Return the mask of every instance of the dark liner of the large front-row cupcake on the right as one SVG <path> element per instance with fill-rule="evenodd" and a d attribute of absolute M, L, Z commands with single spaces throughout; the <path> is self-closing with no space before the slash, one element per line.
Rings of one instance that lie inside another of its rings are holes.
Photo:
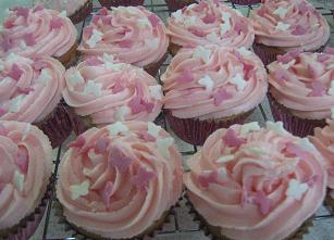
<path fill-rule="evenodd" d="M 196 211 L 187 194 L 185 194 L 185 199 L 187 201 L 186 205 L 189 207 L 189 214 L 193 215 L 195 222 L 199 222 L 199 228 L 205 232 L 207 237 L 212 240 L 237 240 L 223 236 L 221 233 L 220 227 L 210 225 L 206 220 L 206 218 Z M 309 229 L 313 226 L 313 217 L 314 216 L 304 222 L 302 225 L 298 229 L 296 229 L 296 231 L 290 233 L 290 236 L 288 236 L 284 240 L 302 240 L 304 236 L 307 235 L 309 232 Z"/>

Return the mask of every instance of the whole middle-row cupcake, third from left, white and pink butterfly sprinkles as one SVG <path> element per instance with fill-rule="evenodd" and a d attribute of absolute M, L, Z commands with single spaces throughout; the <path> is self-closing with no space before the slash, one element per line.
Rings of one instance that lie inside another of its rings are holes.
<path fill-rule="evenodd" d="M 244 123 L 264 99 L 267 78 L 245 48 L 182 49 L 161 77 L 168 122 L 184 141 L 202 144 L 218 128 Z"/>

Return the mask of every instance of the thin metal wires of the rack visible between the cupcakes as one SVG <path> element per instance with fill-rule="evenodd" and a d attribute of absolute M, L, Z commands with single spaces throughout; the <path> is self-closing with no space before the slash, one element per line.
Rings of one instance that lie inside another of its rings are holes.
<path fill-rule="evenodd" d="M 249 15 L 250 11 L 253 9 L 253 8 L 257 8 L 259 7 L 259 4 L 255 4 L 255 5 L 246 5 L 246 7 L 240 7 L 240 5 L 236 5 L 236 4 L 233 4 L 233 3 L 230 3 L 228 1 L 224 1 L 226 4 L 230 4 L 232 8 L 234 9 L 239 9 L 239 8 L 246 8 L 247 9 L 247 15 Z M 147 8 L 148 10 L 150 10 L 151 12 L 154 12 L 157 13 L 158 15 L 159 14 L 168 14 L 170 15 L 171 12 L 169 12 L 168 10 L 168 7 L 165 3 L 154 3 L 154 0 L 149 0 L 149 4 L 145 4 L 144 5 L 145 8 Z M 97 12 L 99 11 L 100 8 L 95 8 L 94 9 L 94 12 Z M 330 10 L 326 10 L 324 8 L 317 8 L 318 11 L 320 11 L 324 16 L 329 16 L 329 15 L 332 15 L 331 11 Z M 82 26 L 79 28 L 79 38 L 78 38 L 78 42 L 81 42 L 82 40 L 82 36 L 83 36 L 83 29 L 84 27 L 90 22 L 90 18 L 91 18 L 91 15 L 88 16 L 83 23 L 82 23 Z M 170 63 L 170 60 L 168 59 L 162 67 L 159 70 L 159 74 L 158 74 L 158 81 L 161 83 L 160 80 L 160 76 L 162 74 L 162 68 L 165 68 L 168 67 Z M 264 122 L 267 122 L 268 119 L 271 119 L 271 116 L 268 116 L 265 111 L 264 111 L 264 106 L 262 105 L 262 103 L 258 106 L 258 110 L 259 112 L 261 113 L 261 117 L 263 118 Z M 158 124 L 161 125 L 163 128 L 165 128 L 166 130 L 170 130 L 169 127 L 168 127 L 168 124 L 166 124 L 166 119 L 163 115 L 163 113 L 158 117 Z M 193 150 L 190 151 L 184 151 L 182 152 L 182 155 L 183 156 L 187 156 L 187 155 L 193 155 L 194 153 L 196 153 L 198 150 L 197 146 L 193 146 Z M 57 176 L 58 176 L 58 167 L 59 167 L 59 163 L 60 163 L 60 160 L 61 160 L 61 152 L 62 152 L 62 146 L 59 147 L 58 149 L 58 154 L 57 154 L 57 159 L 55 161 L 53 162 L 54 163 L 54 170 L 53 170 L 53 181 L 52 182 L 55 182 L 57 181 Z M 48 239 L 48 231 L 50 229 L 50 218 L 51 218 L 51 211 L 52 211 L 52 205 L 54 203 L 54 201 L 57 201 L 55 199 L 55 191 L 54 191 L 54 188 L 53 188 L 53 191 L 52 191 L 52 194 L 51 194 L 51 198 L 49 200 L 49 204 L 48 204 L 48 209 L 47 209 L 47 212 L 46 212 L 46 217 L 45 217 L 45 223 L 44 223 L 44 230 L 42 230 L 42 239 Z M 182 207 L 185 207 L 184 206 L 184 203 L 181 203 Z M 160 236 L 166 236 L 166 235 L 174 235 L 174 233 L 183 233 L 183 232 L 199 232 L 200 229 L 199 227 L 197 228 L 189 228 L 189 229 L 182 229 L 180 227 L 180 223 L 178 223 L 178 218 L 177 218 L 177 213 L 174 212 L 174 214 L 172 215 L 173 217 L 173 223 L 174 223 L 174 230 L 162 230 L 162 231 L 159 231 L 158 235 Z M 323 219 L 329 219 L 329 218 L 334 218 L 334 210 L 329 210 L 329 214 L 325 214 L 325 215 L 318 215 L 316 216 L 316 220 L 323 220 Z M 69 232 L 69 238 L 65 238 L 67 240 L 70 239 L 76 239 L 75 237 L 70 237 L 70 232 Z M 51 240 L 49 238 L 49 240 Z M 52 240 L 55 240 L 55 239 L 52 239 Z"/>

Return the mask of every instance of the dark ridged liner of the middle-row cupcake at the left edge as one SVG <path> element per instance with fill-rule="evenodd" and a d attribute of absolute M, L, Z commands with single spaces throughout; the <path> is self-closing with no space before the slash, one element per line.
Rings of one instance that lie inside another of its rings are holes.
<path fill-rule="evenodd" d="M 73 116 L 70 106 L 60 102 L 41 122 L 34 123 L 50 139 L 52 148 L 63 143 L 73 130 Z"/>

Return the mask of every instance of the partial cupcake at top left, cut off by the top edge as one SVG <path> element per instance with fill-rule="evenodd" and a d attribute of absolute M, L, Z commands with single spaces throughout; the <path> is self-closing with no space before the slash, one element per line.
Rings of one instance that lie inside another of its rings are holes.
<path fill-rule="evenodd" d="M 67 17 L 74 24 L 83 22 L 92 10 L 91 0 L 37 0 L 36 2 L 59 12 L 66 11 Z"/>

